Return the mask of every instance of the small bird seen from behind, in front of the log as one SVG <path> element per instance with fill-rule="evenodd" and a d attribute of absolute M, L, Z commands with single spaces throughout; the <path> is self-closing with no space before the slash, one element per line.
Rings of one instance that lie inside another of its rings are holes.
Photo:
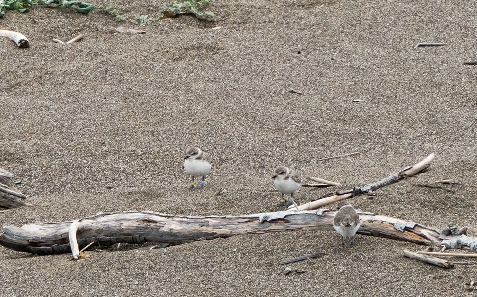
<path fill-rule="evenodd" d="M 333 227 L 343 237 L 341 247 L 344 247 L 345 238 L 351 238 L 350 244 L 354 243 L 354 234 L 359 229 L 359 215 L 346 201 L 338 204 L 338 211 L 334 215 Z"/>

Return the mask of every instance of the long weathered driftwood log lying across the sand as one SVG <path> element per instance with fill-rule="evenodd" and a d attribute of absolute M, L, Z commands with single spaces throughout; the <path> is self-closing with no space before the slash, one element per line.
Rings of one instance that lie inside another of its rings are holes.
<path fill-rule="evenodd" d="M 176 216 L 155 212 L 100 213 L 68 222 L 34 223 L 4 226 L 0 244 L 17 251 L 33 254 L 72 252 L 95 242 L 100 246 L 115 243 L 159 243 L 177 245 L 197 240 L 227 238 L 241 234 L 327 230 L 334 231 L 334 211 L 281 211 L 244 216 Z M 441 245 L 443 240 L 459 239 L 454 248 L 477 251 L 476 238 L 465 235 L 442 236 L 434 228 L 392 217 L 360 213 L 358 234 L 403 240 L 422 245 Z"/>

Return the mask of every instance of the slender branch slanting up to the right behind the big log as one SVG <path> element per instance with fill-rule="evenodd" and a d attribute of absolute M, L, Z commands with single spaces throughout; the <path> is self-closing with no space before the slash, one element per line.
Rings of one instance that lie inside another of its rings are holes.
<path fill-rule="evenodd" d="M 348 191 L 328 194 L 324 197 L 318 198 L 317 200 L 309 201 L 309 202 L 306 202 L 302 205 L 299 205 L 298 210 L 318 209 L 318 208 L 323 207 L 325 205 L 328 205 L 328 204 L 331 204 L 331 203 L 334 203 L 334 202 L 338 202 L 340 200 L 353 198 L 353 197 L 363 195 L 363 194 L 372 196 L 372 195 L 374 195 L 373 191 L 375 191 L 379 188 L 389 186 L 391 184 L 397 183 L 398 181 L 400 181 L 400 180 L 402 180 L 406 177 L 414 176 L 418 173 L 421 173 L 423 170 L 425 170 L 426 168 L 428 168 L 431 165 L 431 162 L 434 160 L 434 158 L 435 158 L 435 154 L 431 153 L 430 155 L 428 155 L 425 159 L 423 159 L 419 163 L 414 164 L 414 165 L 409 166 L 409 167 L 406 167 L 406 168 L 404 168 L 404 170 L 399 171 L 399 172 L 394 173 L 394 174 L 391 174 L 390 176 L 385 177 L 385 178 L 383 178 L 383 179 L 381 179 L 377 182 L 367 184 L 367 185 L 362 186 L 362 187 L 354 187 L 353 189 L 348 190 Z M 292 209 L 292 208 L 297 209 L 294 205 L 291 205 L 288 208 L 289 209 Z"/>

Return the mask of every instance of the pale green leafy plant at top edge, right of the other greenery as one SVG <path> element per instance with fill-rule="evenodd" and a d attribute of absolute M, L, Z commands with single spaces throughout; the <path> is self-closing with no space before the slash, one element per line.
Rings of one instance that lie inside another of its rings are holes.
<path fill-rule="evenodd" d="M 174 17 L 179 14 L 193 14 L 199 19 L 211 20 L 214 13 L 205 11 L 210 5 L 209 0 L 173 1 L 162 9 L 164 17 Z"/>

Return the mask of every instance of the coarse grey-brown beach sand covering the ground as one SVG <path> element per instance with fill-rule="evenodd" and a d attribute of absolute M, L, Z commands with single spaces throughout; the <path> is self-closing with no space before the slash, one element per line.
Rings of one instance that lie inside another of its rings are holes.
<path fill-rule="evenodd" d="M 107 4 L 133 14 L 162 7 Z M 136 27 L 140 35 L 115 32 L 121 24 L 98 11 L 34 8 L 0 19 L 31 45 L 0 39 L 0 167 L 35 206 L 0 213 L 0 225 L 121 210 L 275 211 L 277 165 L 348 189 L 434 152 L 425 174 L 351 202 L 476 236 L 477 68 L 462 65 L 477 53 L 475 2 L 214 0 L 211 10 L 216 22 L 166 19 Z M 79 33 L 68 47 L 52 42 Z M 194 192 L 181 168 L 190 146 L 214 159 L 206 188 Z M 414 186 L 447 178 L 471 186 Z M 227 193 L 215 196 L 220 188 Z M 261 234 L 79 262 L 1 247 L 0 295 L 464 296 L 477 275 L 476 265 L 443 270 L 404 258 L 413 244 L 356 239 L 341 251 L 335 232 Z M 303 274 L 286 276 L 278 264 L 315 252 L 325 256 L 290 264 Z"/>

